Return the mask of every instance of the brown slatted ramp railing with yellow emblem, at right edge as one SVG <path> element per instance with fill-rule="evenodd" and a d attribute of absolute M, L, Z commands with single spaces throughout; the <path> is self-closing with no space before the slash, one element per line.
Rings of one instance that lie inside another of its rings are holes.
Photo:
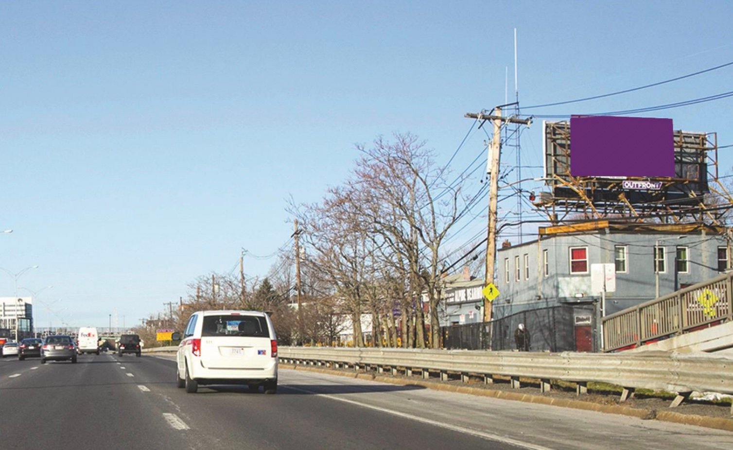
<path fill-rule="evenodd" d="M 733 272 L 672 292 L 603 318 L 603 350 L 638 347 L 721 322 L 733 320 Z"/>

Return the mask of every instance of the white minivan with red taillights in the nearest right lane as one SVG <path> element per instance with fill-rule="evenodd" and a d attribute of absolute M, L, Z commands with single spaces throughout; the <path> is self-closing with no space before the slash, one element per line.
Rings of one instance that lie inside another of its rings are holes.
<path fill-rule="evenodd" d="M 179 388 L 246 384 L 250 391 L 277 392 L 277 337 L 268 314 L 198 311 L 186 325 L 176 355 Z"/>

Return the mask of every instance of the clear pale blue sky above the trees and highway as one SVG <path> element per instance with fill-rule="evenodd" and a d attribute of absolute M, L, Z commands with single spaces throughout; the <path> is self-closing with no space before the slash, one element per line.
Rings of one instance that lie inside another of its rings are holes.
<path fill-rule="evenodd" d="M 520 106 L 531 106 L 733 62 L 731 17 L 726 1 L 2 1 L 0 229 L 15 231 L 0 235 L 0 268 L 39 265 L 18 285 L 53 285 L 39 298 L 70 325 L 105 326 L 113 310 L 117 325 L 139 323 L 196 277 L 232 270 L 240 248 L 276 251 L 292 234 L 286 199 L 315 202 L 342 182 L 354 144 L 410 132 L 446 163 L 471 128 L 463 115 L 504 103 L 507 70 L 513 100 L 515 28 Z M 732 90 L 726 67 L 521 112 Z M 726 145 L 732 106 L 650 115 Z M 540 125 L 522 135 L 526 166 L 541 166 Z M 486 139 L 469 133 L 453 174 Z M 453 246 L 480 232 L 479 211 Z M 248 278 L 272 263 L 246 258 Z M 0 296 L 12 290 L 0 273 Z M 48 325 L 40 304 L 36 315 Z"/>

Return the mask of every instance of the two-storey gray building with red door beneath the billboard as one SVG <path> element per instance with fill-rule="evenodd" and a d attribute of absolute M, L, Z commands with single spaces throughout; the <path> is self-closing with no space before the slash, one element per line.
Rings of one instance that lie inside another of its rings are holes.
<path fill-rule="evenodd" d="M 509 342 L 514 322 L 534 317 L 530 331 L 542 339 L 533 350 L 596 349 L 601 293 L 592 289 L 591 271 L 598 263 L 615 269 L 615 292 L 605 295 L 608 315 L 717 276 L 729 267 L 729 243 L 724 229 L 699 224 L 595 221 L 539 229 L 538 240 L 497 251 L 494 284 L 501 295 L 493 319 L 503 325 L 495 345 Z M 538 327 L 554 329 L 531 329 Z"/>

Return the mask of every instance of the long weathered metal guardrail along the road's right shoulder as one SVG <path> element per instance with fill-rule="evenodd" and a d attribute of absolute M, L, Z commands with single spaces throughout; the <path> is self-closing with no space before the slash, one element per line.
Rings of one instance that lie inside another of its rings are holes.
<path fill-rule="evenodd" d="M 484 350 L 412 350 L 334 347 L 280 347 L 280 361 L 292 364 L 376 369 L 397 374 L 421 372 L 427 378 L 449 373 L 510 377 L 519 387 L 519 377 L 540 380 L 542 391 L 550 380 L 577 383 L 578 394 L 589 381 L 622 386 L 622 401 L 637 388 L 677 392 L 673 406 L 693 391 L 733 394 L 733 359 L 710 355 L 663 352 L 626 353 L 530 353 Z M 733 409 L 733 408 L 732 408 Z"/>

